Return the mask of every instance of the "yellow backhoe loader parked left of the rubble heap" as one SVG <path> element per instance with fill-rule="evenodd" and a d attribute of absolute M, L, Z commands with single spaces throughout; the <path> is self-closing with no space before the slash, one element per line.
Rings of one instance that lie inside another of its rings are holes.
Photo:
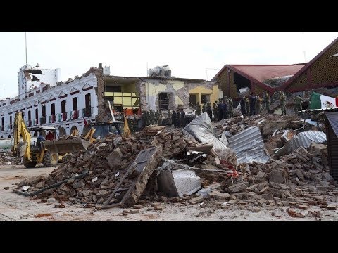
<path fill-rule="evenodd" d="M 37 131 L 46 140 L 32 138 L 31 132 Z M 49 131 L 49 134 L 46 134 Z M 35 126 L 27 129 L 23 120 L 23 112 L 15 113 L 14 138 L 11 150 L 14 155 L 23 157 L 23 164 L 26 168 L 33 168 L 37 163 L 46 167 L 54 167 L 58 164 L 61 155 L 74 153 L 87 149 L 88 141 L 80 138 L 70 140 L 57 140 L 56 128 L 53 126 Z M 22 141 L 20 139 L 22 138 Z"/>

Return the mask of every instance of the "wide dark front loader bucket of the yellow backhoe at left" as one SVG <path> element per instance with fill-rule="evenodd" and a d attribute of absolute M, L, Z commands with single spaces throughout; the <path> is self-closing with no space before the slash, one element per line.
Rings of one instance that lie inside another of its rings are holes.
<path fill-rule="evenodd" d="M 42 141 L 42 148 L 46 148 L 50 153 L 76 153 L 80 150 L 87 150 L 90 143 L 82 138 L 73 138 L 58 141 Z"/>

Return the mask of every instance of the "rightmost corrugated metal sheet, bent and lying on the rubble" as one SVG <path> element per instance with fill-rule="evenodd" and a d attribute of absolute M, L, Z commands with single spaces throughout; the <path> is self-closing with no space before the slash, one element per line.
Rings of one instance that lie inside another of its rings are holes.
<path fill-rule="evenodd" d="M 285 143 L 284 147 L 277 152 L 277 155 L 292 153 L 299 147 L 308 148 L 311 142 L 323 143 L 326 141 L 326 134 L 322 131 L 304 131 L 294 135 L 294 137 Z"/>

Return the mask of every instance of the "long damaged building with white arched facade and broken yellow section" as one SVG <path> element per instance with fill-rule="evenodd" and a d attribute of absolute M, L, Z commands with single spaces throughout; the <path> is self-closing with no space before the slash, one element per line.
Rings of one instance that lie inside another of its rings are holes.
<path fill-rule="evenodd" d="M 165 67 L 165 72 L 149 72 L 149 77 L 118 77 L 100 63 L 82 76 L 61 82 L 59 69 L 25 65 L 18 72 L 18 96 L 0 101 L 0 138 L 13 136 L 15 112 L 19 111 L 24 112 L 28 127 L 55 126 L 63 136 L 73 130 L 86 134 L 89 122 L 106 122 L 110 115 L 107 101 L 114 112 L 134 115 L 139 108 L 194 108 L 197 102 L 213 103 L 223 96 L 218 82 L 172 77 Z"/>

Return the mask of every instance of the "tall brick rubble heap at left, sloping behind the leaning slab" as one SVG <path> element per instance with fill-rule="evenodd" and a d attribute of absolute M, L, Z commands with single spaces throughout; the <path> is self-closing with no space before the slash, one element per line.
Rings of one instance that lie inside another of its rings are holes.
<path fill-rule="evenodd" d="M 49 176 L 35 176 L 21 181 L 18 183 L 18 189 L 22 190 L 23 186 L 30 186 L 27 193 L 34 193 L 39 189 L 69 179 L 56 188 L 42 191 L 37 196 L 39 198 L 52 197 L 61 201 L 104 204 L 142 150 L 154 146 L 159 148 L 156 153 L 157 160 L 152 163 L 153 167 L 156 167 L 157 164 L 161 165 L 161 158 L 182 159 L 185 156 L 184 150 L 196 149 L 197 151 L 189 156 L 192 159 L 199 157 L 199 149 L 208 148 L 197 141 L 184 138 L 180 129 L 163 131 L 164 129 L 165 126 L 147 126 L 144 131 L 130 138 L 108 136 L 92 144 L 87 150 L 73 155 L 68 162 L 54 169 Z M 217 165 L 213 155 L 204 158 L 208 164 Z M 198 162 L 199 159 L 195 161 Z M 83 178 L 73 179 L 74 176 L 84 173 L 87 175 Z M 145 185 L 149 176 L 150 174 L 144 179 Z M 131 183 L 128 179 L 124 179 L 119 188 L 125 189 Z M 140 194 L 130 203 L 136 203 L 139 197 Z"/>

